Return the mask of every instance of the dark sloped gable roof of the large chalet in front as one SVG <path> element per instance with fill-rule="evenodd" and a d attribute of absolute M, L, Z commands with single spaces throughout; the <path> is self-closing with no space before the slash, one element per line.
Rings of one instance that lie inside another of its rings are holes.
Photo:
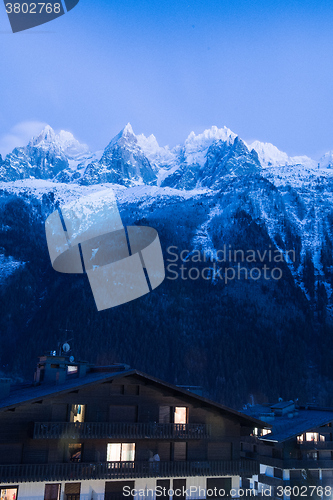
<path fill-rule="evenodd" d="M 98 367 L 97 367 L 98 368 Z M 107 367 L 105 367 L 107 369 Z M 45 383 L 39 385 L 32 384 L 28 387 L 12 387 L 10 395 L 0 400 L 0 411 L 9 410 L 19 405 L 23 405 L 26 403 L 33 403 L 35 401 L 39 401 L 40 399 L 45 399 L 47 397 L 52 397 L 56 394 L 66 393 L 68 391 L 75 390 L 77 388 L 82 388 L 85 386 L 93 385 L 99 382 L 107 382 L 117 378 L 123 378 L 128 376 L 137 376 L 144 380 L 149 380 L 150 382 L 156 384 L 157 386 L 167 387 L 173 392 L 178 393 L 179 395 L 186 396 L 186 398 L 194 399 L 196 401 L 200 401 L 203 405 L 210 406 L 217 410 L 220 410 L 225 416 L 229 417 L 237 417 L 241 424 L 252 427 L 267 427 L 267 424 L 264 424 L 261 420 L 258 420 L 252 416 L 245 415 L 239 411 L 233 410 L 232 408 L 228 408 L 227 406 L 221 405 L 212 401 L 210 399 L 204 398 L 202 396 L 198 396 L 197 394 L 190 392 L 186 389 L 182 389 L 176 385 L 169 384 L 163 380 L 160 380 L 156 377 L 148 375 L 146 373 L 140 372 L 134 369 L 125 369 L 117 372 L 110 371 L 98 371 L 98 372 L 88 372 L 82 378 L 73 378 L 67 379 L 62 384 L 52 384 Z M 269 425 L 268 425 L 269 427 Z"/>

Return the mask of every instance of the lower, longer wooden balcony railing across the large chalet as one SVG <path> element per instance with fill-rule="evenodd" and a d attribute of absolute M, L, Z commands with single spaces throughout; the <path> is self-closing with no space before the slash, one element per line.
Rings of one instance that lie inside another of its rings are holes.
<path fill-rule="evenodd" d="M 259 465 L 251 460 L 21 464 L 0 465 L 0 482 L 234 475 L 250 477 L 258 473 Z"/>

